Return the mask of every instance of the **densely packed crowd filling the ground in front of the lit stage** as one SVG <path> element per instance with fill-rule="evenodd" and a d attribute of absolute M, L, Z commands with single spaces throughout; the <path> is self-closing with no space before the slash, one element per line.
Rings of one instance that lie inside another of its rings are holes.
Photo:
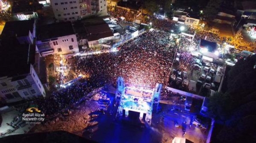
<path fill-rule="evenodd" d="M 77 63 L 77 75 L 90 75 L 104 82 L 124 77 L 127 83 L 154 86 L 166 84 L 175 49 L 170 47 L 170 33 L 146 32 L 122 45 L 118 53 L 89 55 Z"/>

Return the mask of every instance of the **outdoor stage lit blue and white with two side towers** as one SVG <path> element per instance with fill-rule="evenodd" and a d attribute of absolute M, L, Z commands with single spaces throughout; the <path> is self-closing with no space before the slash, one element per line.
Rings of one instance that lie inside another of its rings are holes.
<path fill-rule="evenodd" d="M 118 77 L 117 83 L 115 94 L 115 98 L 119 101 L 117 119 L 150 125 L 152 111 L 158 107 L 162 84 L 156 84 L 155 89 L 133 84 L 125 86 L 122 77 Z"/>

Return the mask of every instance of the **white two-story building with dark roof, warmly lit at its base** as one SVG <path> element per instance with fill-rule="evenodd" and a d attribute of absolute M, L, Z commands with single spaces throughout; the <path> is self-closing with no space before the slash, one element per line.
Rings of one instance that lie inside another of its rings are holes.
<path fill-rule="evenodd" d="M 69 21 L 42 25 L 37 35 L 36 51 L 43 57 L 79 52 L 76 34 Z"/>

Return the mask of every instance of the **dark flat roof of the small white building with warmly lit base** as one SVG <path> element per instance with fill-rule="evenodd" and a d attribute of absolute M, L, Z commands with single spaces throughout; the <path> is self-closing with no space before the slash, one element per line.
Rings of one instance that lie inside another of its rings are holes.
<path fill-rule="evenodd" d="M 37 40 L 47 40 L 75 34 L 71 21 L 52 23 L 38 27 Z"/>

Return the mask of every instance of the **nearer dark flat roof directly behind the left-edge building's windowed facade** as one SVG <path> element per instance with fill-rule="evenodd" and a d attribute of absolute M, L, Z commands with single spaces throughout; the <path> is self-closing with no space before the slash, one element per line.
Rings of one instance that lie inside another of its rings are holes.
<path fill-rule="evenodd" d="M 30 65 L 35 63 L 35 45 L 20 45 L 16 37 L 2 41 L 1 44 L 0 77 L 30 73 Z"/>

